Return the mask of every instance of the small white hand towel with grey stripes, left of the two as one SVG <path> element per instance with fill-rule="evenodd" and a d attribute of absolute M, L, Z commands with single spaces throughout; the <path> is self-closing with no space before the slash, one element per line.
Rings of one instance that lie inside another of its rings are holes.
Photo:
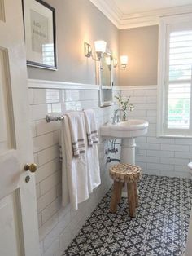
<path fill-rule="evenodd" d="M 73 157 L 85 153 L 85 121 L 84 113 L 66 113 L 71 131 Z"/>

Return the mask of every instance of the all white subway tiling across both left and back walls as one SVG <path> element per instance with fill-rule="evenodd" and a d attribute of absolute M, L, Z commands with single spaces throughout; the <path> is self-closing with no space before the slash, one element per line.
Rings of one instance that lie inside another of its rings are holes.
<path fill-rule="evenodd" d="M 150 86 L 149 86 L 150 88 Z M 149 121 L 148 133 L 136 139 L 136 164 L 146 174 L 158 174 L 190 178 L 187 167 L 192 161 L 192 139 L 173 139 L 156 137 L 156 89 L 115 91 L 124 96 L 131 95 L 135 105 L 131 118 Z M 99 108 L 98 90 L 57 90 L 29 89 L 31 108 L 31 130 L 33 136 L 34 158 L 38 165 L 37 209 L 41 255 L 60 256 L 74 236 L 79 232 L 86 218 L 111 187 L 106 164 L 108 156 L 119 158 L 120 150 L 114 155 L 106 155 L 110 144 L 102 138 L 98 146 L 102 184 L 89 195 L 89 200 L 81 203 L 79 210 L 73 211 L 70 205 L 61 206 L 61 163 L 59 161 L 59 121 L 46 123 L 46 114 L 60 115 L 68 110 L 94 108 L 98 127 L 111 121 L 114 107 Z M 53 112 L 53 113 L 50 113 Z"/>

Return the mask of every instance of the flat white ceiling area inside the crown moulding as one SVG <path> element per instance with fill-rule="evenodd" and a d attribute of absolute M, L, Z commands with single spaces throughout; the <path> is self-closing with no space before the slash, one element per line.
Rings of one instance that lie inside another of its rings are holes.
<path fill-rule="evenodd" d="M 103 0 L 115 4 L 124 15 L 192 4 L 192 0 Z"/>

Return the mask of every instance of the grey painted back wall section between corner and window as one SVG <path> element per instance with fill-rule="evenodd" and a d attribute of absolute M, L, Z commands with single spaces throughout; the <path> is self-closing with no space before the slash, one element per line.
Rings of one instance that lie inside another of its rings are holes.
<path fill-rule="evenodd" d="M 158 26 L 120 30 L 119 53 L 129 56 L 126 70 L 120 70 L 120 86 L 157 84 Z"/>

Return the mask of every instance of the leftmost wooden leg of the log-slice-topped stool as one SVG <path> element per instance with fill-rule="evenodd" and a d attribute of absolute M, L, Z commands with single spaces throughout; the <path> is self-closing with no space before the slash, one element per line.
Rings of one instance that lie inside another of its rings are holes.
<path fill-rule="evenodd" d="M 112 197 L 111 197 L 111 206 L 110 206 L 111 213 L 116 213 L 117 205 L 120 202 L 122 187 L 123 187 L 123 183 L 114 181 Z"/>

